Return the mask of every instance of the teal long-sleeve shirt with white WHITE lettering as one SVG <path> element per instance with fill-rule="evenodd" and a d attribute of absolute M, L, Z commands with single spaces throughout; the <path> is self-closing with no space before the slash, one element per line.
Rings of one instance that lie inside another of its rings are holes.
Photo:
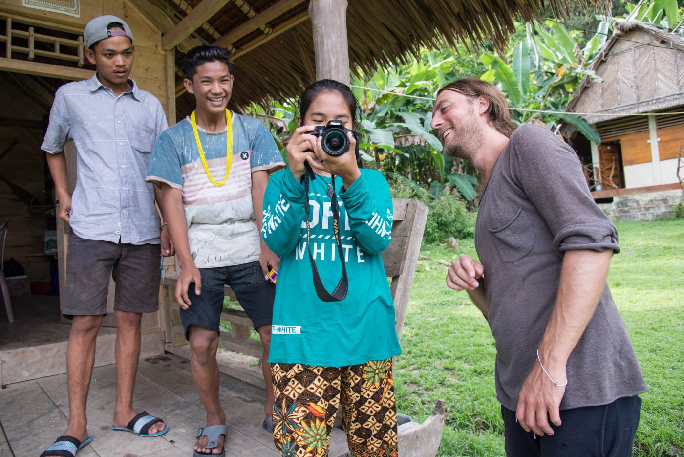
<path fill-rule="evenodd" d="M 332 291 L 342 267 L 334 239 L 331 180 L 311 181 L 311 252 L 321 281 Z M 349 278 L 347 297 L 323 302 L 308 259 L 304 186 L 282 170 L 269 180 L 261 236 L 280 256 L 269 362 L 343 367 L 398 355 L 395 313 L 381 252 L 392 239 L 392 198 L 376 170 L 361 170 L 347 190 L 335 178 L 341 241 Z"/>

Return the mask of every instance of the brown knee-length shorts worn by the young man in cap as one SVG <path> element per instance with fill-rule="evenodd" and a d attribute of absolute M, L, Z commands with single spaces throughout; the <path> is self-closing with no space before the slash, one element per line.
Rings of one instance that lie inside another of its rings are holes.
<path fill-rule="evenodd" d="M 159 244 L 112 243 L 69 233 L 62 315 L 107 315 L 109 276 L 116 282 L 114 309 L 159 309 Z"/>

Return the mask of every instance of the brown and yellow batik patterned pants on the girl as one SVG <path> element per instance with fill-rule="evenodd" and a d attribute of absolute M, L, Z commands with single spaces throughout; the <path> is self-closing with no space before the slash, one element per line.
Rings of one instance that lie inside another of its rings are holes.
<path fill-rule="evenodd" d="M 392 359 L 348 367 L 273 363 L 273 439 L 283 457 L 326 457 L 335 415 L 352 457 L 397 457 Z"/>

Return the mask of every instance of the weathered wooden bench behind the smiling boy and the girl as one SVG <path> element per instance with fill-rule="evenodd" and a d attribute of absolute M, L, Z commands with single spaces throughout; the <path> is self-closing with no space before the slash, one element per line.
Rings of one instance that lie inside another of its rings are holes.
<path fill-rule="evenodd" d="M 395 326 L 397 336 L 401 339 L 425 221 L 428 218 L 428 207 L 417 200 L 395 199 L 393 200 L 393 210 L 392 241 L 389 248 L 382 252 L 382 261 L 388 278 L 391 278 L 390 290 L 395 305 Z M 159 298 L 160 309 L 164 315 L 163 321 L 166 324 L 166 350 L 189 358 L 189 348 L 183 335 L 179 304 L 174 298 L 176 279 L 177 276 L 173 271 L 166 276 L 166 279 L 162 281 Z M 231 301 L 237 301 L 235 293 L 230 287 L 226 286 L 224 293 Z M 252 322 L 247 314 L 242 310 L 226 307 L 221 314 L 221 319 L 231 322 L 231 330 L 230 332 L 221 332 L 220 347 L 260 359 L 262 355 L 261 342 L 250 338 Z M 219 365 L 221 371 L 228 376 L 262 388 L 265 387 L 261 369 L 257 366 L 226 360 L 220 360 Z"/>

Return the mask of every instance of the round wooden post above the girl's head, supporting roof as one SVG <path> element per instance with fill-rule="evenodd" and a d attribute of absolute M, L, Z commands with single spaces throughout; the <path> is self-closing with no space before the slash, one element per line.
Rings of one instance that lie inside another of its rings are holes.
<path fill-rule="evenodd" d="M 347 0 L 311 0 L 308 5 L 316 55 L 316 79 L 349 84 Z"/>

